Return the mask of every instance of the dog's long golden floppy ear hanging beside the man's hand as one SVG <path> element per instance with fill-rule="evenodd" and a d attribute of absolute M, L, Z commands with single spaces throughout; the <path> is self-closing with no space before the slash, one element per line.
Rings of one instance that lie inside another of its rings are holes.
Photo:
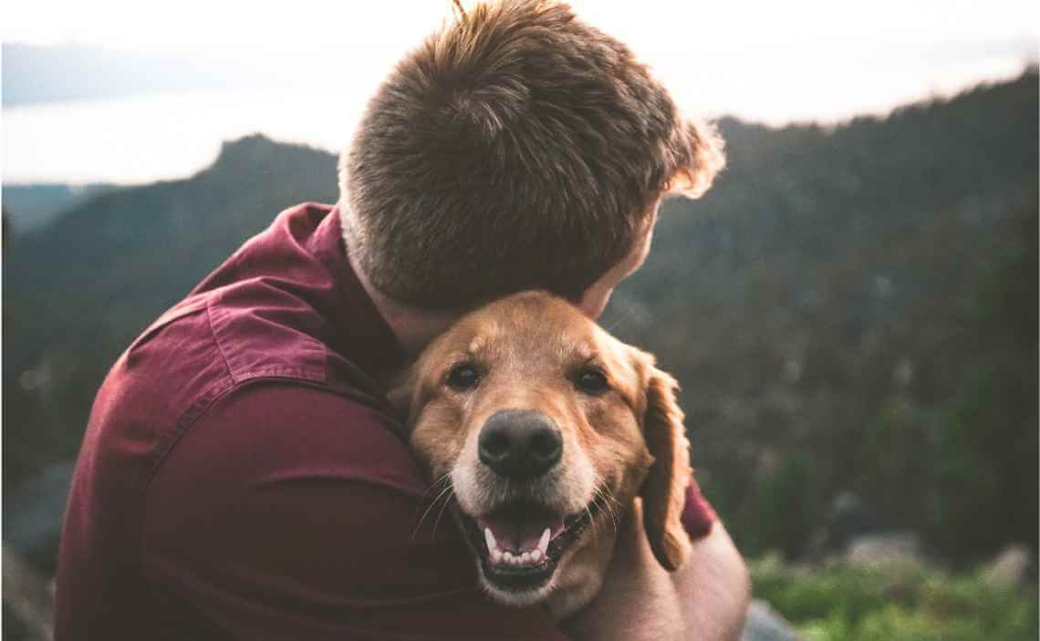
<path fill-rule="evenodd" d="M 690 556 L 690 535 L 682 526 L 682 508 L 690 468 L 690 442 L 683 413 L 675 401 L 678 383 L 670 375 L 649 366 L 643 420 L 647 449 L 654 457 L 643 483 L 643 520 L 650 549 L 668 570 L 676 570 Z"/>

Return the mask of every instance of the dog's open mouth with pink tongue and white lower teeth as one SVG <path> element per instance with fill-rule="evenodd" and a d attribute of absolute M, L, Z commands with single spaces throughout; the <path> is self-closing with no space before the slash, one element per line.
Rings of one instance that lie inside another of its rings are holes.
<path fill-rule="evenodd" d="M 548 584 L 560 560 L 592 525 L 597 511 L 595 501 L 570 516 L 518 501 L 478 517 L 462 511 L 459 515 L 488 582 L 504 591 L 523 592 Z"/>

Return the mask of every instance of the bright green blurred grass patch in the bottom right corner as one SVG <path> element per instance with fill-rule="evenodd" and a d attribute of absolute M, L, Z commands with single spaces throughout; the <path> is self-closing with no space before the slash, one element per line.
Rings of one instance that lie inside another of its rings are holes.
<path fill-rule="evenodd" d="M 1035 586 L 913 564 L 827 563 L 776 556 L 751 564 L 756 596 L 807 641 L 1025 641 L 1038 630 Z"/>

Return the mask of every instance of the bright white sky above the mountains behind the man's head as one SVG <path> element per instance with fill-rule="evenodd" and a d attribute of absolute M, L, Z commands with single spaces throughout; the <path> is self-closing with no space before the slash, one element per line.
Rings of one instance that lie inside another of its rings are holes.
<path fill-rule="evenodd" d="M 777 126 L 883 114 L 1015 76 L 1036 59 L 1040 33 L 1036 0 L 571 4 L 627 43 L 684 110 Z M 4 108 L 4 181 L 185 176 L 211 161 L 220 140 L 252 131 L 339 150 L 387 70 L 450 15 L 448 0 L 6 3 L 4 43 L 103 45 L 127 56 L 252 56 L 280 64 L 272 75 L 294 88 L 292 96 L 210 92 Z"/>

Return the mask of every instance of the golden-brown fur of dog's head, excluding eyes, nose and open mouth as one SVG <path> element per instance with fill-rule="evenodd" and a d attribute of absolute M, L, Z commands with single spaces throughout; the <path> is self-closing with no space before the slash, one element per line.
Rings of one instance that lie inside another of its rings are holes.
<path fill-rule="evenodd" d="M 448 384 L 460 364 L 479 372 L 472 389 Z M 590 369 L 605 376 L 600 394 L 577 383 Z M 450 488 L 444 496 L 469 533 L 489 594 L 512 605 L 545 602 L 562 619 L 599 591 L 617 524 L 636 500 L 660 564 L 674 570 L 690 555 L 680 514 L 692 471 L 675 390 L 650 354 L 618 341 L 567 301 L 526 292 L 458 321 L 419 356 L 392 398 L 409 408 L 411 446 L 438 479 L 435 489 Z M 511 481 L 480 462 L 480 429 L 503 409 L 537 411 L 558 428 L 562 459 L 545 475 Z M 479 527 L 474 536 L 476 517 L 516 501 L 582 520 L 588 512 L 591 519 L 537 589 L 504 589 L 489 580 Z"/>

